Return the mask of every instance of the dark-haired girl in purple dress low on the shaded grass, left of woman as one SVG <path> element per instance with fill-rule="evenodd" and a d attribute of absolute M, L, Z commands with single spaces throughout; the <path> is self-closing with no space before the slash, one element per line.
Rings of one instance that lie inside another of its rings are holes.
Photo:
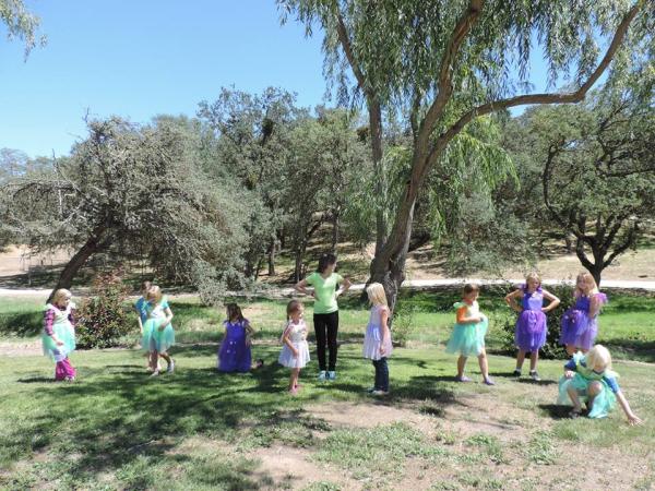
<path fill-rule="evenodd" d="M 239 306 L 227 304 L 227 320 L 223 322 L 223 325 L 225 326 L 225 337 L 218 350 L 218 371 L 240 373 L 250 371 L 252 364 L 250 338 L 254 331 L 248 319 L 243 318 Z"/>

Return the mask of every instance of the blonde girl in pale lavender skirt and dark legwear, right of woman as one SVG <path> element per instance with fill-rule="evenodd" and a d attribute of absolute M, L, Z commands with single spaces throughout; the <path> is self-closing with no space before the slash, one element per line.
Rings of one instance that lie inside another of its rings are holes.
<path fill-rule="evenodd" d="M 366 292 L 372 307 L 364 336 L 364 358 L 372 360 L 373 367 L 376 367 L 376 384 L 369 392 L 373 395 L 386 395 L 389 394 L 386 359 L 391 356 L 392 350 L 386 296 L 384 288 L 379 283 L 370 284 Z"/>

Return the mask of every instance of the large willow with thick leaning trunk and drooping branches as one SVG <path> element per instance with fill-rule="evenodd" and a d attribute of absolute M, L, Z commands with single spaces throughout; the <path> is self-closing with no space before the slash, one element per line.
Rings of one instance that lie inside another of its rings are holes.
<path fill-rule="evenodd" d="M 417 196 L 471 121 L 523 105 L 577 103 L 610 65 L 610 77 L 619 76 L 653 53 L 653 0 L 277 3 L 283 21 L 295 15 L 308 34 L 322 28 L 326 74 L 342 94 L 367 104 L 374 161 L 382 160 L 382 109 L 404 115 L 410 129 L 410 172 L 393 224 L 389 230 L 378 224 L 384 237 L 370 267 L 392 306 L 405 276 Z M 549 86 L 565 80 L 569 89 L 529 93 L 536 49 Z"/>

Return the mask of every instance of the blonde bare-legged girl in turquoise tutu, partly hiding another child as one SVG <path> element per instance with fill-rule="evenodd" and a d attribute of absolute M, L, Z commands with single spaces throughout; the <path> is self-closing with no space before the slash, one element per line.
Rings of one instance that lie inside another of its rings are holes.
<path fill-rule="evenodd" d="M 141 346 L 150 352 L 150 366 L 153 370 L 153 376 L 159 374 L 157 367 L 158 357 L 162 357 L 168 363 L 167 373 L 175 370 L 175 361 L 168 355 L 168 348 L 175 344 L 175 332 L 170 321 L 172 311 L 168 301 L 162 295 L 162 289 L 154 285 L 146 294 L 147 303 L 145 311 L 147 319 L 143 323 L 143 337 Z"/>

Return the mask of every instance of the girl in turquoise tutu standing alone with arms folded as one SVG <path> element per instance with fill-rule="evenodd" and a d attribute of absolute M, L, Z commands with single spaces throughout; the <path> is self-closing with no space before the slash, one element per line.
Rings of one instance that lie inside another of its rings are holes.
<path fill-rule="evenodd" d="M 487 361 L 487 351 L 485 350 L 485 335 L 489 321 L 487 316 L 480 313 L 477 302 L 480 289 L 477 285 L 466 284 L 462 292 L 462 301 L 453 307 L 457 311 L 457 322 L 453 328 L 453 334 L 445 346 L 446 352 L 458 352 L 457 358 L 457 382 L 471 382 L 471 379 L 464 375 L 466 359 L 471 355 L 478 357 L 483 381 L 487 385 L 496 385 L 489 376 L 489 366 Z"/>

